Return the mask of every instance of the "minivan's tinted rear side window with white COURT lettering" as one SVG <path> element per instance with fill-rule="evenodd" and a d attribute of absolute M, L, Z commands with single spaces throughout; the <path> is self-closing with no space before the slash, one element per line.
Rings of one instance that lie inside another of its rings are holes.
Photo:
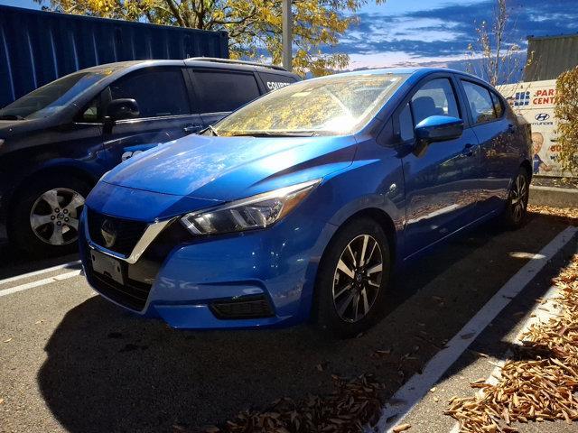
<path fill-rule="evenodd" d="M 233 111 L 260 96 L 256 79 L 250 74 L 195 71 L 200 113 Z"/>

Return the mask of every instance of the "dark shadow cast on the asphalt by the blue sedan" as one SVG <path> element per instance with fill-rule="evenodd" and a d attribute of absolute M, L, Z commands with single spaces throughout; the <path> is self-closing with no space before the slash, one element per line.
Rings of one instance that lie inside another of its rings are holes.
<path fill-rule="evenodd" d="M 511 251 L 536 253 L 564 227 L 551 227 L 545 217 L 529 225 L 534 236 L 529 240 L 519 232 L 499 236 L 506 236 L 506 248 L 490 248 L 496 229 L 482 226 L 410 264 L 393 281 L 387 317 L 365 335 L 344 341 L 325 338 L 309 326 L 174 330 L 95 296 L 71 309 L 52 334 L 39 388 L 54 416 L 75 433 L 158 432 L 219 423 L 282 397 L 331 392 L 331 374 L 372 373 L 387 397 L 420 372 L 521 267 Z M 476 278 L 476 272 L 487 273 L 480 260 L 462 259 L 487 255 L 489 249 L 501 271 L 485 281 Z M 447 275 L 452 265 L 461 276 Z M 475 287 L 463 290 L 461 278 L 473 278 Z"/>

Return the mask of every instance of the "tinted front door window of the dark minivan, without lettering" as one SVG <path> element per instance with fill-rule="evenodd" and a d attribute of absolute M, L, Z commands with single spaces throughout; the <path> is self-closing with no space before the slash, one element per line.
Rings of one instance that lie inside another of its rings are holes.
<path fill-rule="evenodd" d="M 135 99 L 139 117 L 191 113 L 181 69 L 145 69 L 110 85 L 113 99 Z"/>

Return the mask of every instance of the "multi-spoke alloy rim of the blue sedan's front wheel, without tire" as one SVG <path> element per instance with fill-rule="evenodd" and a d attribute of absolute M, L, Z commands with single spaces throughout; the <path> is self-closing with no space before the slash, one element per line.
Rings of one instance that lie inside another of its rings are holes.
<path fill-rule="evenodd" d="M 383 254 L 371 235 L 355 237 L 343 250 L 333 275 L 333 305 L 346 322 L 368 315 L 378 298 L 383 274 Z"/>

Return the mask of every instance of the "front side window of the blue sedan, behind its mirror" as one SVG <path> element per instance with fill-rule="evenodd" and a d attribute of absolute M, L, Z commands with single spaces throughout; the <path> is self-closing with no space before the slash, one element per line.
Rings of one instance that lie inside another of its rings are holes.
<path fill-rule="evenodd" d="M 430 115 L 460 117 L 452 83 L 448 78 L 435 78 L 425 83 L 412 97 L 412 109 L 415 124 Z"/>

